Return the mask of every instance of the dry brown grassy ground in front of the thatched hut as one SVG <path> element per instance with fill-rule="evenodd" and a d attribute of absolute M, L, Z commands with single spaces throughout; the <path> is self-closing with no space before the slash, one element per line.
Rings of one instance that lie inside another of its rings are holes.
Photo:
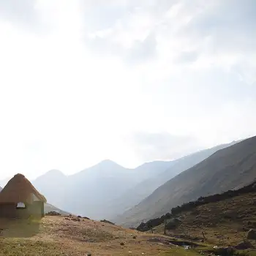
<path fill-rule="evenodd" d="M 149 242 L 152 236 L 156 235 L 88 219 L 1 219 L 0 255 L 186 255 L 182 248 Z"/>

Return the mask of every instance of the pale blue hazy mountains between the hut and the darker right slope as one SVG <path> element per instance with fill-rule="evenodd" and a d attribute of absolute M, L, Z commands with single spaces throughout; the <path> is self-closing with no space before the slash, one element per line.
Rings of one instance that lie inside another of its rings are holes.
<path fill-rule="evenodd" d="M 233 143 L 174 161 L 147 162 L 135 169 L 104 160 L 71 176 L 50 170 L 32 184 L 48 198 L 48 202 L 73 214 L 118 220 L 118 215 L 140 203 L 165 181 Z"/>

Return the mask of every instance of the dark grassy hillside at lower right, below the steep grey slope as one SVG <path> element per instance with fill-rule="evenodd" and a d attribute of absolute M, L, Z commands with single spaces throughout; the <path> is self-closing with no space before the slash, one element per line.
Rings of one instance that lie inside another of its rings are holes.
<path fill-rule="evenodd" d="M 170 236 L 186 234 L 190 238 L 203 239 L 203 231 L 210 244 L 236 245 L 246 237 L 246 230 L 256 227 L 255 213 L 256 192 L 238 195 L 184 211 L 178 215 L 182 224 L 167 233 Z M 159 225 L 154 232 L 163 233 L 163 229 L 164 225 Z"/>

